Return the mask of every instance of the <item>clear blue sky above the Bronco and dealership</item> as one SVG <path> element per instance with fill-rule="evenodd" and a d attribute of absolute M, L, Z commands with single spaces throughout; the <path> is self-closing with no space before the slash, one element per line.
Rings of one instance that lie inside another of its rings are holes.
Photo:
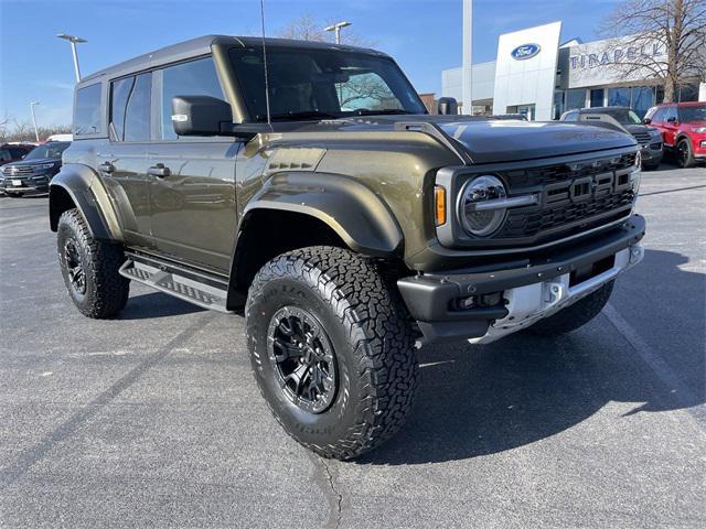
<path fill-rule="evenodd" d="M 266 0 L 268 34 L 310 14 L 347 20 L 389 53 L 418 91 L 441 89 L 441 71 L 461 63 L 462 0 Z M 495 58 L 501 33 L 561 20 L 563 40 L 596 39 L 612 0 L 475 0 L 473 61 Z M 211 33 L 259 34 L 259 0 L 0 0 L 0 117 L 41 125 L 71 122 L 74 73 L 69 45 L 83 36 L 83 74 L 168 44 Z M 343 41 L 345 42 L 343 30 Z"/>

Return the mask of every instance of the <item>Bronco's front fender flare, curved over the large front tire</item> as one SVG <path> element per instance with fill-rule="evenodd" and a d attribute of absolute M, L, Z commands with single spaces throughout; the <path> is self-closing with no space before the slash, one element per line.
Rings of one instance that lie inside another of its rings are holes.
<path fill-rule="evenodd" d="M 403 231 L 387 205 L 349 176 L 311 171 L 277 173 L 250 199 L 240 226 L 256 209 L 280 209 L 318 218 L 354 251 L 373 257 L 398 255 Z"/>

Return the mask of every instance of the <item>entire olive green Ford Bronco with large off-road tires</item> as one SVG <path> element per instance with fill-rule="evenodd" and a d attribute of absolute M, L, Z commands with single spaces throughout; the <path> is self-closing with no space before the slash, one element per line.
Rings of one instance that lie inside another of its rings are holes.
<path fill-rule="evenodd" d="M 592 317 L 643 256 L 628 134 L 425 109 L 397 64 L 206 36 L 84 78 L 50 190 L 64 282 L 110 317 L 131 281 L 244 312 L 272 413 L 314 452 L 392 436 L 416 348 Z"/>

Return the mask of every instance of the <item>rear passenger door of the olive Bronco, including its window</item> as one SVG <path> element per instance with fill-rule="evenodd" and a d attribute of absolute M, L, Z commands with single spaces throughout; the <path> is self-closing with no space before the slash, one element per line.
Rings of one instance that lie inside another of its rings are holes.
<path fill-rule="evenodd" d="M 126 241 L 152 247 L 147 147 L 150 141 L 151 73 L 110 83 L 110 141 L 96 153 L 107 192 L 116 207 Z"/>

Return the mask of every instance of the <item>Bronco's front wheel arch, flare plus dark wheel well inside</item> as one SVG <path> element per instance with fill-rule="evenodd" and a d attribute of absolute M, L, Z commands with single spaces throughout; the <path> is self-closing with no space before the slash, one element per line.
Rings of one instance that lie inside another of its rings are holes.
<path fill-rule="evenodd" d="M 274 175 L 243 212 L 228 306 L 242 305 L 255 273 L 269 259 L 320 245 L 395 259 L 402 257 L 403 233 L 387 206 L 353 179 L 311 172 Z"/>

